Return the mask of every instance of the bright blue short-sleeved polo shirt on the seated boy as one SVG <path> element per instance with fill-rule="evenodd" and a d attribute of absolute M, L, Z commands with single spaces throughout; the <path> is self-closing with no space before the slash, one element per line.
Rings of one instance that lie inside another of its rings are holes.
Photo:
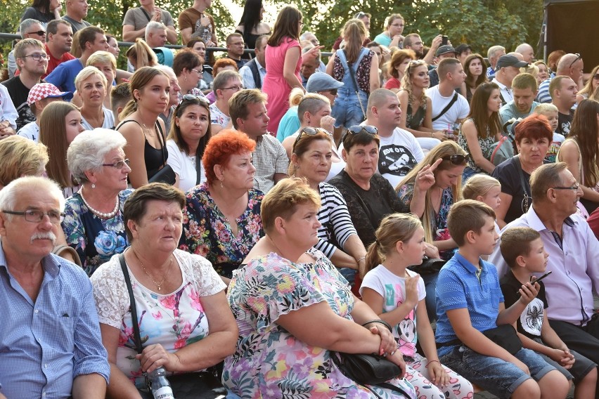
<path fill-rule="evenodd" d="M 479 259 L 479 266 L 480 280 L 476 266 L 456 252 L 439 272 L 435 341 L 442 343 L 458 338 L 447 317 L 447 310 L 467 308 L 472 327 L 480 332 L 497 327 L 499 303 L 503 302 L 497 269 L 482 259 Z M 442 346 L 437 352 L 439 356 L 446 355 L 452 348 Z"/>

